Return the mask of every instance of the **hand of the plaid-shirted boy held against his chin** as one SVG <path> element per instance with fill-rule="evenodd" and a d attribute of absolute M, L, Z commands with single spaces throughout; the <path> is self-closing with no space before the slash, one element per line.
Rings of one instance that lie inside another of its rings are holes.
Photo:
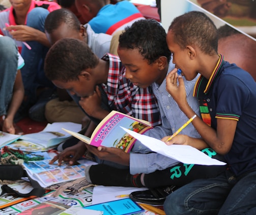
<path fill-rule="evenodd" d="M 88 97 L 81 97 L 79 104 L 89 116 L 93 116 L 93 117 L 97 116 L 96 113 L 102 110 L 101 94 L 100 94 L 99 87 L 96 86 L 96 89 L 93 95 L 90 95 Z"/>

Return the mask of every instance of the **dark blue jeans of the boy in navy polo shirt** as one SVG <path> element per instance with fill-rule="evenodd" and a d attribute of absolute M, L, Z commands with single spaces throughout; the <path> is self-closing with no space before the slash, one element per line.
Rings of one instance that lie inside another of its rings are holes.
<path fill-rule="evenodd" d="M 164 202 L 169 214 L 256 214 L 256 170 L 240 177 L 226 170 L 217 177 L 195 180 Z"/>

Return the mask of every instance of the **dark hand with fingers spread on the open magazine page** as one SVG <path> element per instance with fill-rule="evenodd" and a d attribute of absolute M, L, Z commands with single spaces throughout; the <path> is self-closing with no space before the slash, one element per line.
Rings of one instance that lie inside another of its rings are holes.
<path fill-rule="evenodd" d="M 59 160 L 59 166 L 61 166 L 62 161 L 69 161 L 70 165 L 74 165 L 74 163 L 86 152 L 86 147 L 84 145 L 84 142 L 79 141 L 76 145 L 66 148 L 59 155 L 54 156 L 49 164 L 53 164 L 56 160 Z"/>

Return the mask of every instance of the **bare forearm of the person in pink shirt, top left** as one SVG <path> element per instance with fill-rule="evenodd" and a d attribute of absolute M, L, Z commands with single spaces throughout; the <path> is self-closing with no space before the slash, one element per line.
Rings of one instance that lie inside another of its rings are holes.
<path fill-rule="evenodd" d="M 46 34 L 38 29 L 26 25 L 11 25 L 6 27 L 10 31 L 13 39 L 17 41 L 37 41 L 46 47 L 50 47 L 50 43 L 46 38 Z"/>

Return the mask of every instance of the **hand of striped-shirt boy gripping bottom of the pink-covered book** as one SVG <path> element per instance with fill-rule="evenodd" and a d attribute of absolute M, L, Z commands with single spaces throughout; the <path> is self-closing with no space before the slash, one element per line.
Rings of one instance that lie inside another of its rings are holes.
<path fill-rule="evenodd" d="M 86 145 L 89 152 L 93 153 L 99 159 L 119 163 L 125 166 L 129 166 L 130 155 L 124 152 L 122 149 L 114 147 L 94 147 Z"/>

